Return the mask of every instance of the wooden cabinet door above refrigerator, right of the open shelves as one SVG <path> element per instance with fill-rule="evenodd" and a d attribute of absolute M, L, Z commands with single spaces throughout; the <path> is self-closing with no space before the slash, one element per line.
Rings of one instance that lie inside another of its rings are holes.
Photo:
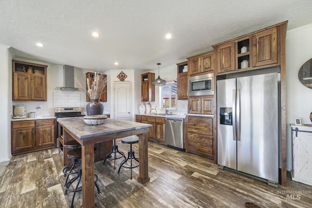
<path fill-rule="evenodd" d="M 277 63 L 276 28 L 253 36 L 253 66 Z"/>

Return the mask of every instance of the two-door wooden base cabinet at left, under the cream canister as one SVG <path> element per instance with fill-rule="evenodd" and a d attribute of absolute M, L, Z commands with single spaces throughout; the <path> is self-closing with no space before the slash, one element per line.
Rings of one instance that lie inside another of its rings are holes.
<path fill-rule="evenodd" d="M 56 147 L 55 123 L 56 119 L 12 121 L 12 155 Z"/>

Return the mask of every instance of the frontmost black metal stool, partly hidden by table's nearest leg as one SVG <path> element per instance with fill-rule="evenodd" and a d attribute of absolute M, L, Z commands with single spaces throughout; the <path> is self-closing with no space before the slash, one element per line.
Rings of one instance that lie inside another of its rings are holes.
<path fill-rule="evenodd" d="M 94 151 L 96 151 L 97 148 L 94 148 Z M 70 192 L 74 192 L 73 194 L 73 198 L 72 198 L 72 202 L 71 202 L 71 208 L 73 207 L 73 204 L 74 204 L 74 199 L 75 199 L 75 195 L 76 195 L 76 192 L 78 191 L 81 191 L 82 190 L 82 187 L 80 186 L 79 187 L 79 183 L 81 181 L 81 176 L 82 176 L 82 169 L 81 169 L 81 147 L 79 148 L 75 148 L 73 150 L 70 150 L 68 151 L 67 153 L 67 156 L 69 159 L 72 159 L 72 160 L 78 160 L 79 163 L 80 163 L 80 166 L 78 166 L 77 168 L 77 175 L 70 179 L 66 184 L 65 184 L 65 192 L 64 194 L 67 194 L 67 191 L 70 191 Z M 95 186 L 96 188 L 98 189 L 98 193 L 100 192 L 99 188 L 98 188 L 98 175 L 97 174 L 94 174 L 94 177 L 95 177 Z M 78 180 L 78 181 L 77 181 Z M 77 181 L 77 184 L 76 186 L 74 187 L 74 189 L 71 189 L 70 186 L 75 182 Z M 78 188 L 79 187 L 79 188 Z"/>

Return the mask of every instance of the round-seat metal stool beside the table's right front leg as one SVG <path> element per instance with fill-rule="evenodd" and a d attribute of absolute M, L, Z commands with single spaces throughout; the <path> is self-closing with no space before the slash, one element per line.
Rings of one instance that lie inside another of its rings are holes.
<path fill-rule="evenodd" d="M 130 150 L 128 151 L 128 157 L 127 159 L 123 160 L 121 163 L 120 163 L 120 167 L 118 169 L 118 174 L 119 174 L 119 171 L 121 169 L 121 167 L 124 167 L 124 168 L 127 168 L 127 169 L 130 169 L 131 171 L 131 177 L 130 179 L 132 179 L 132 169 L 134 168 L 137 168 L 139 165 L 137 166 L 133 166 L 132 165 L 132 159 L 136 160 L 137 162 L 139 162 L 138 158 L 135 157 L 135 151 L 132 150 L 132 144 L 136 144 L 138 143 L 138 136 L 137 135 L 132 135 L 132 136 L 127 136 L 127 137 L 124 137 L 121 139 L 121 142 L 123 144 L 130 144 Z M 126 166 L 124 165 L 128 160 L 130 159 L 130 166 Z"/>

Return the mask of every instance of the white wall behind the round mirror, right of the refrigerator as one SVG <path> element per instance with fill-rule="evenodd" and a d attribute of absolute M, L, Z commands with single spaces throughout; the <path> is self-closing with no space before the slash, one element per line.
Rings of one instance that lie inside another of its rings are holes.
<path fill-rule="evenodd" d="M 312 89 L 298 79 L 300 67 L 312 58 L 312 24 L 287 31 L 286 35 L 286 82 L 287 123 L 299 117 L 303 124 L 312 124 Z M 287 126 L 287 169 L 292 169 L 292 132 Z"/>

